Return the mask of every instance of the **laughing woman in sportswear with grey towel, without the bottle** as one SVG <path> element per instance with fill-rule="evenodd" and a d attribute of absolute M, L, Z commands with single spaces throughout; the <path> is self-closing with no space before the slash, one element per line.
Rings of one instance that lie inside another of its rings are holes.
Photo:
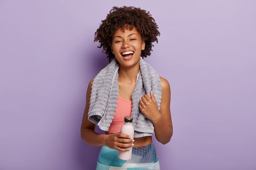
<path fill-rule="evenodd" d="M 157 29 L 149 12 L 124 6 L 113 7 L 95 33 L 94 41 L 100 42 L 99 48 L 103 47 L 112 66 L 111 71 L 111 66 L 101 71 L 106 72 L 104 76 L 100 72 L 90 81 L 81 124 L 83 141 L 92 146 L 102 146 L 97 170 L 114 167 L 160 169 L 152 132 L 162 144 L 167 144 L 173 135 L 171 91 L 168 81 L 152 76 L 157 73 L 143 60 L 150 55 L 152 43 L 157 42 L 160 35 Z M 151 77 L 146 79 L 145 76 Z M 142 84 L 140 88 L 137 87 L 139 83 Z M 160 89 L 157 90 L 157 87 Z M 140 98 L 137 99 L 137 96 Z M 133 122 L 136 130 L 134 139 L 120 133 L 126 115 L 136 117 Z M 106 130 L 106 134 L 95 132 L 95 124 Z M 118 151 L 127 151 L 131 146 L 132 159 L 123 161 L 117 157 Z"/>

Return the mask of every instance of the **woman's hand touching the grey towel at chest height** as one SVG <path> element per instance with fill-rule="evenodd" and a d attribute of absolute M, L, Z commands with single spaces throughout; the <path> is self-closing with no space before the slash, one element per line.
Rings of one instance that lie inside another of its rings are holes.
<path fill-rule="evenodd" d="M 153 121 L 153 119 L 156 118 L 156 115 L 160 114 L 160 112 L 152 91 L 150 91 L 150 95 L 151 98 L 147 94 L 141 97 L 141 100 L 139 100 L 139 109 L 146 118 Z"/>

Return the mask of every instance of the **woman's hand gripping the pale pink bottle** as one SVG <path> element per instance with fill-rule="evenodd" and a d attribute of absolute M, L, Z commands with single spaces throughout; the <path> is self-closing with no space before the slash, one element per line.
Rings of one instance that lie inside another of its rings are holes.
<path fill-rule="evenodd" d="M 133 142 L 134 139 L 130 139 L 129 135 L 120 132 L 110 134 L 106 138 L 106 146 L 119 151 L 130 150 L 130 147 L 134 146 Z"/>

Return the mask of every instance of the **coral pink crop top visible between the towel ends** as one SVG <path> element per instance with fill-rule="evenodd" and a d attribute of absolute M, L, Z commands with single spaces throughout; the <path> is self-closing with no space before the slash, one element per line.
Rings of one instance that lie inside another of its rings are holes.
<path fill-rule="evenodd" d="M 108 131 L 110 133 L 117 133 L 120 132 L 121 127 L 124 124 L 124 117 L 131 116 L 132 113 L 132 101 L 125 100 L 118 96 L 117 99 L 117 108 L 114 115 L 114 119 L 110 124 Z"/>

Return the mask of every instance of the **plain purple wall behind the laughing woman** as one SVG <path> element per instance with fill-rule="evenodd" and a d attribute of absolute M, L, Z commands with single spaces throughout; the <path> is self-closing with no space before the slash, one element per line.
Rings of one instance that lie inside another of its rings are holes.
<path fill-rule="evenodd" d="M 162 170 L 256 169 L 255 0 L 1 0 L 0 170 L 93 170 L 83 143 L 88 83 L 108 64 L 94 32 L 113 6 L 150 11 L 145 59 L 171 85 Z"/>

